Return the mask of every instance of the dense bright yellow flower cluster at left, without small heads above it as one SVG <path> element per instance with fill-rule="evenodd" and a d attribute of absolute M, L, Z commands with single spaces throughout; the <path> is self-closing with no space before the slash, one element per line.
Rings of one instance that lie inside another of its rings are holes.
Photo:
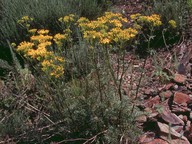
<path fill-rule="evenodd" d="M 51 51 L 52 40 L 61 40 L 64 37 L 61 34 L 56 34 L 54 37 L 48 35 L 49 30 L 31 29 L 29 32 L 37 32 L 36 35 L 30 37 L 29 42 L 21 42 L 17 46 L 17 51 L 24 53 L 27 58 L 32 58 L 41 63 L 42 70 L 48 73 L 51 77 L 58 78 L 64 73 L 64 59 L 61 56 L 56 56 L 56 53 Z"/>

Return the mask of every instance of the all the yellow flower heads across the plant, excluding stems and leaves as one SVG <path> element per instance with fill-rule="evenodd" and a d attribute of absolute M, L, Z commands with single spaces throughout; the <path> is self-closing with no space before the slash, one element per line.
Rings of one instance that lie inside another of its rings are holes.
<path fill-rule="evenodd" d="M 42 71 L 49 76 L 59 78 L 64 74 L 65 61 L 62 48 L 65 43 L 72 42 L 72 24 L 80 28 L 83 39 L 92 47 L 95 44 L 120 46 L 122 43 L 133 40 L 144 24 L 148 25 L 149 29 L 162 25 L 161 18 L 157 14 L 151 16 L 134 14 L 130 18 L 135 24 L 126 27 L 128 20 L 119 13 L 105 12 L 96 20 L 89 20 L 85 17 L 76 19 L 75 15 L 70 14 L 58 19 L 64 29 L 63 32 L 51 35 L 47 29 L 32 29 L 30 23 L 33 18 L 24 16 L 18 23 L 27 29 L 30 40 L 21 42 L 17 46 L 17 51 L 23 53 L 28 59 L 38 61 Z M 170 20 L 168 23 L 173 28 L 176 27 L 175 21 Z M 56 49 L 53 49 L 53 42 L 56 44 Z"/>

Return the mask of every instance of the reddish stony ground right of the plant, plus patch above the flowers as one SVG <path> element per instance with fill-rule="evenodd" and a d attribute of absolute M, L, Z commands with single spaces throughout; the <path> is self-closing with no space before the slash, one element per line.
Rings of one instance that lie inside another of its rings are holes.
<path fill-rule="evenodd" d="M 143 8 L 139 0 L 124 1 L 115 7 L 127 17 Z M 124 92 L 144 112 L 137 118 L 138 127 L 144 131 L 140 143 L 192 143 L 191 40 L 185 39 L 170 51 L 162 50 L 146 59 L 127 52 L 124 60 Z"/>

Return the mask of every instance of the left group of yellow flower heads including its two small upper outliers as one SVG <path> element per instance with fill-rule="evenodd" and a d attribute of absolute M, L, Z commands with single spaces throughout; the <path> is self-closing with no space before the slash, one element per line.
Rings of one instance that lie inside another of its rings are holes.
<path fill-rule="evenodd" d="M 64 22 L 69 25 L 73 21 L 74 15 L 64 17 Z M 24 16 L 18 23 L 25 26 L 30 33 L 30 41 L 23 41 L 17 46 L 17 51 L 22 52 L 28 59 L 36 60 L 41 64 L 43 72 L 54 78 L 59 78 L 64 74 L 64 56 L 62 54 L 63 43 L 70 39 L 71 30 L 69 26 L 63 33 L 49 35 L 46 29 L 30 29 L 28 16 Z M 53 50 L 53 42 L 57 49 Z"/>

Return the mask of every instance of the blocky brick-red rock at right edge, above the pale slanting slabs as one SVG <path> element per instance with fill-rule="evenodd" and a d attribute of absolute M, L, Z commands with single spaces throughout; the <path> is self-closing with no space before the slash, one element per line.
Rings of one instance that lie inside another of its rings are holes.
<path fill-rule="evenodd" d="M 177 104 L 189 103 L 191 101 L 191 98 L 189 95 L 182 92 L 175 92 L 173 101 Z"/>

